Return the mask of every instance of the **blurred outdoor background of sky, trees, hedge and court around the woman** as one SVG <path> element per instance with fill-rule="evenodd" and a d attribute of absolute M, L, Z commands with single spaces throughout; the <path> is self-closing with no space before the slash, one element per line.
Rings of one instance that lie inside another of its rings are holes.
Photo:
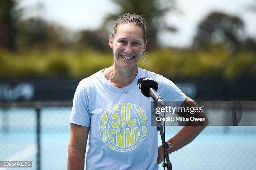
<path fill-rule="evenodd" d="M 146 19 L 139 67 L 194 100 L 256 99 L 256 0 L 1 0 L 0 161 L 66 169 L 74 91 L 113 63 L 108 37 L 122 13 Z M 255 126 L 207 127 L 170 159 L 182 170 L 251 170 L 255 140 Z"/>

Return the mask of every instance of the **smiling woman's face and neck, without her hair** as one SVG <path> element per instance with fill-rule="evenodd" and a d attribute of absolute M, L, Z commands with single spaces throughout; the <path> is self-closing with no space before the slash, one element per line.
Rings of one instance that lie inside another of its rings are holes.
<path fill-rule="evenodd" d="M 146 49 L 143 30 L 134 23 L 119 24 L 115 35 L 109 38 L 109 45 L 113 49 L 115 61 L 111 66 L 115 81 L 111 83 L 116 87 L 125 87 L 136 77 L 137 63 Z M 111 80 L 112 74 L 109 70 L 111 69 L 108 68 L 103 72 L 106 78 Z"/>

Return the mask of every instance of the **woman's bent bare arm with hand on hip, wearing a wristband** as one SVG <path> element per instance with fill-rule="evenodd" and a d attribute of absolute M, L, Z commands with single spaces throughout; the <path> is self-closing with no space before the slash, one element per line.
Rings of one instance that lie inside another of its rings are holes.
<path fill-rule="evenodd" d="M 189 97 L 186 97 L 185 101 L 182 103 L 180 107 L 198 107 L 198 105 L 195 102 L 189 102 L 193 101 Z M 179 113 L 178 113 L 179 114 Z M 168 141 L 172 145 L 172 151 L 179 150 L 180 148 L 184 147 L 185 145 L 189 144 L 194 140 L 201 132 L 202 130 L 208 125 L 208 120 L 205 114 L 202 115 L 206 118 L 206 121 L 203 125 L 200 126 L 184 126 L 176 135 L 174 135 L 172 138 L 170 138 Z M 157 163 L 160 164 L 164 160 L 164 147 L 163 145 L 158 147 L 158 157 L 157 157 Z"/>

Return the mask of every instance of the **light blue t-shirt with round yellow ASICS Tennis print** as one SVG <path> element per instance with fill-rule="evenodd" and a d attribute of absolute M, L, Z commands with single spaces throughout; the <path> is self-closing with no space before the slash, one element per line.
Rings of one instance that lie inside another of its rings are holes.
<path fill-rule="evenodd" d="M 90 127 L 87 170 L 158 169 L 157 130 L 151 126 L 153 99 L 138 89 L 141 77 L 158 83 L 163 100 L 186 98 L 172 81 L 139 67 L 135 79 L 124 88 L 111 85 L 102 70 L 79 82 L 69 121 Z"/>

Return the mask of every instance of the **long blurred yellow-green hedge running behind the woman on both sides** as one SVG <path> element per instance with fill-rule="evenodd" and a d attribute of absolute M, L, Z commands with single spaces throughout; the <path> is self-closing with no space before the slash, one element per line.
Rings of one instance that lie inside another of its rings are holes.
<path fill-rule="evenodd" d="M 177 78 L 256 78 L 253 52 L 232 54 L 220 46 L 209 50 L 161 49 L 148 53 L 139 67 Z M 93 50 L 0 51 L 1 78 L 87 77 L 113 64 L 113 54 Z"/>

